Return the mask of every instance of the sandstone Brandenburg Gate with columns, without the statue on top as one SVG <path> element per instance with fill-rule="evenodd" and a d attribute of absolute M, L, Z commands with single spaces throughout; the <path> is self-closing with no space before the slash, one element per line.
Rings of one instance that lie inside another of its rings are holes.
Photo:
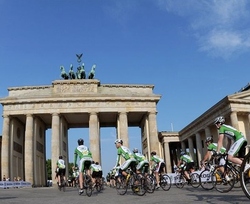
<path fill-rule="evenodd" d="M 100 84 L 97 79 L 56 80 L 47 86 L 8 88 L 3 106 L 1 177 L 20 176 L 44 186 L 46 130 L 51 128 L 52 178 L 59 155 L 68 162 L 68 129 L 89 128 L 89 148 L 101 161 L 100 128 L 115 127 L 129 146 L 128 127 L 141 128 L 143 154 L 159 151 L 153 85 Z"/>

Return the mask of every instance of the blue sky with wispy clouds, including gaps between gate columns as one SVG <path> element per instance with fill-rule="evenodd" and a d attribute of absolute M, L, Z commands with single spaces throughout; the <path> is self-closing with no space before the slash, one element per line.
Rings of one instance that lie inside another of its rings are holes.
<path fill-rule="evenodd" d="M 101 84 L 153 84 L 158 131 L 179 131 L 250 82 L 249 25 L 247 0 L 0 0 L 0 97 L 51 85 L 83 53 Z M 82 135 L 88 143 L 88 130 L 69 131 L 70 160 Z M 129 129 L 130 148 L 139 135 Z M 101 130 L 105 173 L 114 138 L 114 128 Z"/>

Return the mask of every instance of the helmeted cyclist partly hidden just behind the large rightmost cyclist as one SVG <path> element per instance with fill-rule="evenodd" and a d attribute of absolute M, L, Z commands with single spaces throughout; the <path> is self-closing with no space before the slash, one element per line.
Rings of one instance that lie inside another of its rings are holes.
<path fill-rule="evenodd" d="M 205 161 L 209 161 L 213 155 L 213 152 L 217 151 L 217 143 L 213 143 L 213 137 L 207 137 L 205 140 L 205 143 L 207 145 L 207 153 L 205 154 L 204 158 L 201 160 L 201 165 L 203 166 Z M 221 147 L 220 149 L 220 153 L 225 153 L 226 152 L 226 148 L 225 147 Z M 224 165 L 225 164 L 225 159 L 221 158 L 219 161 L 219 165 Z M 223 171 L 223 170 L 222 170 Z"/>

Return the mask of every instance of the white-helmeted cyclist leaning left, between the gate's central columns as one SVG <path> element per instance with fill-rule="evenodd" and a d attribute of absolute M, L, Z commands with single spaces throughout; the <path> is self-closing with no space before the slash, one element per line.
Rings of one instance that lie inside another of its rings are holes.
<path fill-rule="evenodd" d="M 133 153 L 130 151 L 129 148 L 123 146 L 122 139 L 115 140 L 115 146 L 117 148 L 117 159 L 116 159 L 116 167 L 119 165 L 119 161 L 121 156 L 126 160 L 121 166 L 120 171 L 123 176 L 126 177 L 126 179 L 129 178 L 129 174 L 127 174 L 126 170 L 131 167 L 135 168 L 136 160 L 134 158 Z M 134 169 L 135 170 L 135 169 Z"/>

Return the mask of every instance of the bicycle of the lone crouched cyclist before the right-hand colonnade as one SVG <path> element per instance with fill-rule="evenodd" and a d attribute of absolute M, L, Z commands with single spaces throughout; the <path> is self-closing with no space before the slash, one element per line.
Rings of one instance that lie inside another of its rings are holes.
<path fill-rule="evenodd" d="M 175 185 L 177 188 L 183 188 L 184 185 L 186 183 L 188 183 L 187 181 L 187 177 L 186 175 L 184 174 L 184 169 L 182 168 L 181 170 L 178 170 L 176 169 L 175 171 L 176 173 L 176 176 L 175 176 Z M 199 177 L 200 175 L 196 172 L 188 172 L 189 175 L 190 175 L 190 185 L 193 187 L 193 188 L 198 188 L 200 186 L 200 180 L 199 180 Z"/>

